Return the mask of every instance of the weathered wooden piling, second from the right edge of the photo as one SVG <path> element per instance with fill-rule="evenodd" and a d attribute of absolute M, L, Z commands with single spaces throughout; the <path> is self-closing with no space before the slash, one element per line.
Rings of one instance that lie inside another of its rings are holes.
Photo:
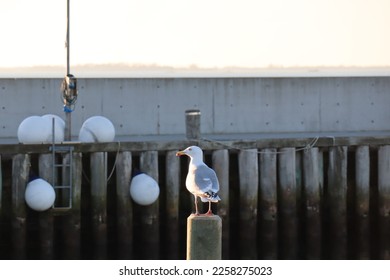
<path fill-rule="evenodd" d="M 370 148 L 360 146 L 355 151 L 355 222 L 356 257 L 370 258 Z"/>

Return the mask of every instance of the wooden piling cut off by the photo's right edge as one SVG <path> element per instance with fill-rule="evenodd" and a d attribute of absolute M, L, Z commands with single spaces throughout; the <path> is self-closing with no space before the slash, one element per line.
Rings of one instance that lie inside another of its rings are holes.
<path fill-rule="evenodd" d="M 390 259 L 390 146 L 378 150 L 379 256 Z"/>

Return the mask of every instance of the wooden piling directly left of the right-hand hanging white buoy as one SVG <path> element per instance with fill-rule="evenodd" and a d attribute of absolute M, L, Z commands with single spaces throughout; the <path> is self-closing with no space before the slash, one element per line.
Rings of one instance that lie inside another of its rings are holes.
<path fill-rule="evenodd" d="M 117 244 L 119 259 L 133 259 L 133 205 L 129 194 L 131 172 L 131 152 L 120 152 L 116 161 Z"/>

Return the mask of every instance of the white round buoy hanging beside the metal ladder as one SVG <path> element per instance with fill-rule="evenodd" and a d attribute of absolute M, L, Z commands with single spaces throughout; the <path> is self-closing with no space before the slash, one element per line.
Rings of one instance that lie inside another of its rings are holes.
<path fill-rule="evenodd" d="M 37 178 L 27 184 L 24 197 L 31 209 L 41 212 L 53 206 L 56 193 L 48 182 Z"/>

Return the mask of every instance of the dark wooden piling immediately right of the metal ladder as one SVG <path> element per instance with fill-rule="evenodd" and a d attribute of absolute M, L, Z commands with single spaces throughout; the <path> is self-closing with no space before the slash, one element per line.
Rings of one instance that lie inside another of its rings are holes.
<path fill-rule="evenodd" d="M 82 154 L 72 153 L 72 209 L 63 217 L 63 257 L 79 260 L 81 258 L 81 182 Z"/>

